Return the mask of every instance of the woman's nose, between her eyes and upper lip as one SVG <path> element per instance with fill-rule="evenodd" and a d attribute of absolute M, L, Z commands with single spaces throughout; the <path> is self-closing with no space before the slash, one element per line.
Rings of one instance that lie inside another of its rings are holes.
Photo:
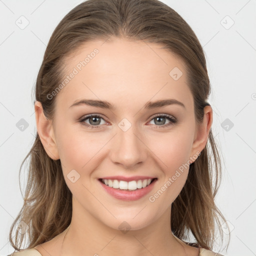
<path fill-rule="evenodd" d="M 112 162 L 122 165 L 122 168 L 134 168 L 136 164 L 144 162 L 149 149 L 143 141 L 143 134 L 138 132 L 135 125 L 126 131 L 119 127 L 116 130 L 109 152 Z"/>

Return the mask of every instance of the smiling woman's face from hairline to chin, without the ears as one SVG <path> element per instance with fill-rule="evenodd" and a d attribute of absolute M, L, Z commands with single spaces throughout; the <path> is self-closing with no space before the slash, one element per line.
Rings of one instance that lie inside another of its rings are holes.
<path fill-rule="evenodd" d="M 115 229 L 139 229 L 169 214 L 206 142 L 196 140 L 185 66 L 160 47 L 119 38 L 88 42 L 66 58 L 61 89 L 49 95 L 56 97 L 53 140 L 73 211 Z M 104 177 L 131 191 L 110 188 Z M 149 188 L 132 190 L 150 177 Z"/>

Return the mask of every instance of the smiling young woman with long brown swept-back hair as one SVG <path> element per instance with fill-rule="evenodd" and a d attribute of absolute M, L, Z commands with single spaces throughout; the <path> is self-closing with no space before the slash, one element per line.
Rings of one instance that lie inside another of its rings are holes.
<path fill-rule="evenodd" d="M 209 93 L 202 47 L 169 6 L 73 8 L 37 76 L 11 255 L 221 255 L 212 251 L 225 219 L 214 203 L 221 169 Z"/>

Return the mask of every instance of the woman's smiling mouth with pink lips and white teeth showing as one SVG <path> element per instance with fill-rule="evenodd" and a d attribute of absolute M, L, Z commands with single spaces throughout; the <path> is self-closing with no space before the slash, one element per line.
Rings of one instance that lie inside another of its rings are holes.
<path fill-rule="evenodd" d="M 100 185 L 113 197 L 120 200 L 137 200 L 149 193 L 157 178 L 146 178 L 137 180 L 117 180 L 99 178 Z"/>

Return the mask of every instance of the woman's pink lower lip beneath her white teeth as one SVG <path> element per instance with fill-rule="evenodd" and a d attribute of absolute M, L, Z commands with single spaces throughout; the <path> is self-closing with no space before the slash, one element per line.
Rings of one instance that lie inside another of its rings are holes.
<path fill-rule="evenodd" d="M 156 182 L 156 180 L 157 179 L 154 179 L 146 187 L 138 188 L 136 190 L 131 190 L 131 191 L 127 191 L 127 190 L 123 190 L 123 189 L 119 189 L 119 188 L 118 189 L 112 188 L 108 185 L 105 185 L 100 180 L 98 180 L 98 181 L 101 184 L 101 186 L 105 189 L 105 191 L 107 191 L 113 197 L 120 199 L 120 200 L 133 201 L 133 200 L 138 200 L 139 198 L 141 198 L 141 197 L 145 196 L 147 193 L 149 193 L 153 189 L 153 186 L 154 186 L 154 183 Z"/>

